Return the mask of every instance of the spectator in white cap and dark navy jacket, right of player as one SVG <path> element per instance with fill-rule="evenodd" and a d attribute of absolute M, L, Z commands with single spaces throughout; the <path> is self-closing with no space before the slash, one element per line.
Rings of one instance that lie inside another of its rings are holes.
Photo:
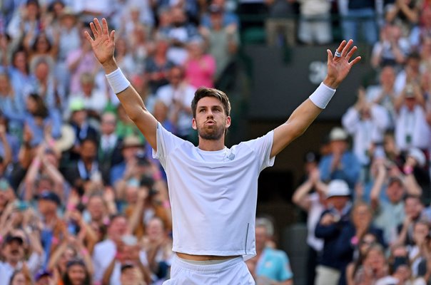
<path fill-rule="evenodd" d="M 335 249 L 343 227 L 349 223 L 351 209 L 349 186 L 343 180 L 333 180 L 328 185 L 328 209 L 323 211 L 315 229 L 315 236 L 323 239 L 323 251 L 316 268 L 315 284 L 344 284 L 341 273 L 348 260 L 340 260 Z"/>

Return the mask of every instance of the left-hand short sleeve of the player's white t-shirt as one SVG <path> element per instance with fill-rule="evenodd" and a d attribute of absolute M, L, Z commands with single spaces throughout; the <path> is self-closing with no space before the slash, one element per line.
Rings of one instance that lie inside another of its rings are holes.
<path fill-rule="evenodd" d="M 153 158 L 158 159 L 166 170 L 166 159 L 176 147 L 182 145 L 184 140 L 169 133 L 161 123 L 157 123 L 156 130 L 157 151 L 153 150 Z"/>

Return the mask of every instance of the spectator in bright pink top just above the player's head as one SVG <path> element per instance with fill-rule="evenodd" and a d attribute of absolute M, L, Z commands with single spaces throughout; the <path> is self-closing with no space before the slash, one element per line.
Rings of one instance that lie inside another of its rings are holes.
<path fill-rule="evenodd" d="M 205 53 L 204 42 L 196 38 L 188 44 L 188 59 L 184 63 L 186 81 L 199 88 L 214 87 L 215 59 Z"/>

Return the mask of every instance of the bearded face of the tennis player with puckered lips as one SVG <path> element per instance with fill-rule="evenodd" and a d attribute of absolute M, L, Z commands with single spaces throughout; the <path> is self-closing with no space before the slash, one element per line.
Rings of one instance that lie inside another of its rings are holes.
<path fill-rule="evenodd" d="M 219 140 L 230 126 L 230 117 L 225 115 L 223 104 L 215 97 L 204 97 L 196 105 L 193 129 L 204 140 Z"/>

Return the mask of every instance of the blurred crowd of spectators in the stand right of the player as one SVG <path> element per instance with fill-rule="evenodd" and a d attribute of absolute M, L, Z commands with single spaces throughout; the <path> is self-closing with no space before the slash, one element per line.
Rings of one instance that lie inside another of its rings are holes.
<path fill-rule="evenodd" d="M 375 76 L 305 155 L 308 284 L 430 284 L 431 1 L 346 3 Z"/>

